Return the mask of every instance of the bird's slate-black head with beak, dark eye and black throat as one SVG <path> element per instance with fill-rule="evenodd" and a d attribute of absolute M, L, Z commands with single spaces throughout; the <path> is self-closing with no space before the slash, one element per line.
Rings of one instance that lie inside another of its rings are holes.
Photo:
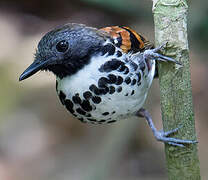
<path fill-rule="evenodd" d="M 105 40 L 95 28 L 66 24 L 48 32 L 40 40 L 34 62 L 22 73 L 26 79 L 39 70 L 52 71 L 59 78 L 72 75 L 89 63 Z"/>

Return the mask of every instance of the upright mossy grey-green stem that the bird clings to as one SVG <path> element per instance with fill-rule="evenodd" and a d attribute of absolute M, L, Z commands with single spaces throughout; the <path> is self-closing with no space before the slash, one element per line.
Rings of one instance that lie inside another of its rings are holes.
<path fill-rule="evenodd" d="M 159 83 L 163 126 L 170 130 L 183 125 L 180 139 L 196 139 L 187 39 L 186 0 L 153 0 L 156 46 L 168 42 L 163 52 L 183 64 L 159 64 Z M 200 180 L 197 144 L 185 148 L 165 145 L 170 180 Z"/>

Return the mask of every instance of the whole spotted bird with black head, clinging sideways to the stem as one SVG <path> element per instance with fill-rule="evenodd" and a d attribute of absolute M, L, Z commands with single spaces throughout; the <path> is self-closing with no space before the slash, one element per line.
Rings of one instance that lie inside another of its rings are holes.
<path fill-rule="evenodd" d="M 46 33 L 38 43 L 33 63 L 19 81 L 38 71 L 56 76 L 61 104 L 83 123 L 109 124 L 131 116 L 147 120 L 158 141 L 184 147 L 196 143 L 170 135 L 178 128 L 157 130 L 143 108 L 157 74 L 157 61 L 181 65 L 159 53 L 143 35 L 127 26 L 104 28 L 68 23 Z"/>

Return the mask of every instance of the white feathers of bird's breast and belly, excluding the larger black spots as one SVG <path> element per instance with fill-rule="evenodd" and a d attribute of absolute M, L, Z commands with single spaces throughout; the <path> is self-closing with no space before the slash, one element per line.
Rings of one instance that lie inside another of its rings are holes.
<path fill-rule="evenodd" d="M 120 57 L 122 60 L 126 58 L 129 58 L 128 55 L 125 55 L 125 57 L 124 55 Z M 84 100 L 85 98 L 83 97 L 83 93 L 90 91 L 90 85 L 94 84 L 98 86 L 98 80 L 101 77 L 107 77 L 109 74 L 121 76 L 123 80 L 125 80 L 126 77 L 130 77 L 132 81 L 133 79 L 138 80 L 138 75 L 132 69 L 130 63 L 125 64 L 129 68 L 128 74 L 123 74 L 118 71 L 100 72 L 100 66 L 111 59 L 112 56 L 94 57 L 91 59 L 88 65 L 86 65 L 82 70 L 78 71 L 75 75 L 70 77 L 67 76 L 63 79 L 57 78 L 57 93 L 59 94 L 60 91 L 62 91 L 66 95 L 66 99 L 70 99 L 71 101 L 73 101 L 73 96 L 78 94 L 81 100 Z M 135 61 L 135 57 L 133 59 Z M 138 64 L 138 60 L 135 61 L 135 63 Z M 135 85 L 127 85 L 126 82 L 123 82 L 120 85 L 109 84 L 109 86 L 115 87 L 115 92 L 113 94 L 107 93 L 105 95 L 95 95 L 92 93 L 93 96 L 99 96 L 101 98 L 101 102 L 96 104 L 92 101 L 92 99 L 89 99 L 90 105 L 93 107 L 92 111 L 87 112 L 88 115 L 90 114 L 90 119 L 111 122 L 112 120 L 124 119 L 138 111 L 143 106 L 148 89 L 152 83 L 155 72 L 155 62 L 151 61 L 150 71 L 148 71 L 146 63 L 144 72 L 142 73 L 142 71 L 140 71 L 137 70 L 137 73 L 140 73 L 142 76 L 140 85 L 137 85 L 137 83 Z M 122 88 L 122 90 L 120 89 L 120 92 L 118 90 L 119 88 Z M 89 121 L 87 117 L 76 112 L 76 108 L 79 107 L 79 104 L 74 104 L 73 108 L 75 110 L 75 115 L 79 118 L 84 118 L 84 121 Z"/>

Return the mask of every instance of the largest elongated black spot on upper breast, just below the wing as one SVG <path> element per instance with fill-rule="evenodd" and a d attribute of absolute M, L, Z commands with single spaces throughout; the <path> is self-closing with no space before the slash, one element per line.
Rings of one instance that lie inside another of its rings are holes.
<path fill-rule="evenodd" d="M 118 59 L 112 59 L 111 61 L 107 61 L 103 65 L 100 66 L 100 72 L 111 72 L 113 70 L 117 70 L 121 65 L 124 65 L 124 62 Z"/>

